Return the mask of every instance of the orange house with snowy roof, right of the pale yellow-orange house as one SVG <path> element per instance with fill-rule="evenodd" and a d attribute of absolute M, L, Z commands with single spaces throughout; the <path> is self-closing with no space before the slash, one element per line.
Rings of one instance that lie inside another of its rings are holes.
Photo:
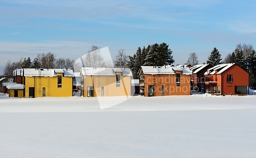
<path fill-rule="evenodd" d="M 189 67 L 141 66 L 140 95 L 146 97 L 190 95 L 190 75 Z"/>

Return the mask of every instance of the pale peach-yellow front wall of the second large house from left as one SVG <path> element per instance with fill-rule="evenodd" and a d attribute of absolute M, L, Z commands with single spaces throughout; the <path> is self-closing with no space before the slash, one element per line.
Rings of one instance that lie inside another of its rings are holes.
<path fill-rule="evenodd" d="M 101 96 L 102 86 L 104 96 L 131 96 L 131 76 L 120 75 L 120 87 L 116 87 L 116 76 L 84 76 L 83 78 L 84 97 L 88 97 L 88 86 L 94 87 L 94 97 Z"/>

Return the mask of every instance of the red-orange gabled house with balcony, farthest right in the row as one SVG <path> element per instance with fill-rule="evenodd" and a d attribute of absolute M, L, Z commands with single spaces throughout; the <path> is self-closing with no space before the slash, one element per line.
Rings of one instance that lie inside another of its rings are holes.
<path fill-rule="evenodd" d="M 219 64 L 204 73 L 205 92 L 221 95 L 247 95 L 249 73 L 236 63 Z"/>

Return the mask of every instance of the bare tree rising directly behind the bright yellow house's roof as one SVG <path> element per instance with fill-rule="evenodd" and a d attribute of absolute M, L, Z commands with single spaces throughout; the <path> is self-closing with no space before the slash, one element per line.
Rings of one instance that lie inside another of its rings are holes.
<path fill-rule="evenodd" d="M 53 53 L 49 52 L 47 54 L 38 54 L 37 55 L 37 59 L 38 59 L 38 66 L 40 68 L 54 68 L 55 66 L 55 60 L 56 57 Z"/>

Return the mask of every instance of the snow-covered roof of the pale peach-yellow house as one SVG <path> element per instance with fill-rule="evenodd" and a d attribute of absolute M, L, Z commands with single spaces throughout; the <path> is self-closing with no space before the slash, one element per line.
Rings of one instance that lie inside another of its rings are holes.
<path fill-rule="evenodd" d="M 108 68 L 108 67 L 81 67 L 80 75 L 115 76 L 116 72 L 123 76 L 132 76 L 129 68 Z"/>

